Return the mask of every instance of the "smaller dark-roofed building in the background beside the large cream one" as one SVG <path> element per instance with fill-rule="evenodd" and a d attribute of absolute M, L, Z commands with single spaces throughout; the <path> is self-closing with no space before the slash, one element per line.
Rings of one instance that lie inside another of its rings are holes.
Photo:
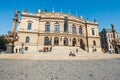
<path fill-rule="evenodd" d="M 112 29 L 103 28 L 103 30 L 100 32 L 100 37 L 101 37 L 101 47 L 104 49 L 104 51 L 115 52 L 114 46 L 112 44 L 114 42 Z M 118 32 L 115 32 L 115 39 L 119 39 Z"/>

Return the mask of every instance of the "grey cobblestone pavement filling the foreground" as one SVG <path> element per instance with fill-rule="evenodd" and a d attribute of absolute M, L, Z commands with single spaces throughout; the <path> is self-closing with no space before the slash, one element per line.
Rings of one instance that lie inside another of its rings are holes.
<path fill-rule="evenodd" d="M 0 59 L 0 80 L 120 80 L 120 58 L 100 60 Z"/>

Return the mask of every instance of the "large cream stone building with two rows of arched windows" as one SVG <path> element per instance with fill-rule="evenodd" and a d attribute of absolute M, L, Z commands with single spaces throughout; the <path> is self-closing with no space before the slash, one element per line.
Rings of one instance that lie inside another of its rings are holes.
<path fill-rule="evenodd" d="M 26 52 L 55 46 L 80 47 L 88 52 L 101 52 L 98 23 L 61 12 L 22 12 L 18 23 L 19 40 L 15 49 Z"/>

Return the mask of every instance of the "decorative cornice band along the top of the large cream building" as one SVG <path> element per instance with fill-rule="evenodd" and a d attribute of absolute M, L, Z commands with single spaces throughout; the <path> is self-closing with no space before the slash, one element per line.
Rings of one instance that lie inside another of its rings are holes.
<path fill-rule="evenodd" d="M 47 15 L 49 14 L 49 15 Z M 53 16 L 51 16 L 50 14 L 52 14 Z M 59 15 L 56 15 L 59 14 Z M 44 16 L 43 16 L 44 15 Z M 89 22 L 89 21 L 83 21 L 80 18 L 77 18 L 75 16 L 69 15 L 69 14 L 63 14 L 61 15 L 61 13 L 52 13 L 52 12 L 45 12 L 45 13 L 40 13 L 38 14 L 31 14 L 31 13 L 23 13 L 22 16 L 25 17 L 34 17 L 34 18 L 40 18 L 40 19 L 58 19 L 58 20 L 65 20 L 65 16 L 68 17 L 68 21 L 73 21 L 73 22 L 78 22 L 78 23 L 83 23 L 83 24 L 90 24 L 90 25 L 97 25 L 97 22 Z M 60 17 L 63 16 L 63 17 Z"/>

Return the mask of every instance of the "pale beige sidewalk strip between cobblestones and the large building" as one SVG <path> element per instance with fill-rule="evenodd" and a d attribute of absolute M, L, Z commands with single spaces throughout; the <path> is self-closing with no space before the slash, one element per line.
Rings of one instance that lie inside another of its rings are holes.
<path fill-rule="evenodd" d="M 120 54 L 102 54 L 102 53 L 76 53 L 75 57 L 68 54 L 52 53 L 14 53 L 0 54 L 0 59 L 32 59 L 32 60 L 89 60 L 89 59 L 109 59 L 120 58 Z"/>

